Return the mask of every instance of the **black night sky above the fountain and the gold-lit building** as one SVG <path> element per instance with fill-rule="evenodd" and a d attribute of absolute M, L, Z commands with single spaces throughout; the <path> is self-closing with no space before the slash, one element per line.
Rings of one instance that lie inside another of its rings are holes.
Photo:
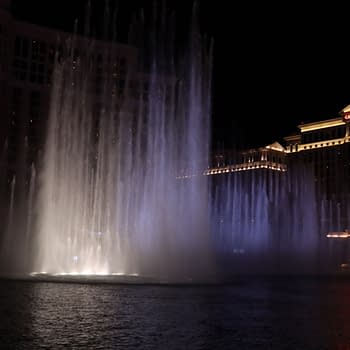
<path fill-rule="evenodd" d="M 178 27 L 185 28 L 191 1 L 167 2 L 175 9 Z M 214 146 L 283 141 L 301 122 L 337 117 L 350 104 L 346 4 L 198 2 L 202 31 L 214 40 Z M 13 11 L 22 19 L 69 29 L 74 18 L 81 18 L 84 3 L 13 0 Z M 150 3 L 120 0 L 122 25 L 128 22 L 127 13 Z"/>

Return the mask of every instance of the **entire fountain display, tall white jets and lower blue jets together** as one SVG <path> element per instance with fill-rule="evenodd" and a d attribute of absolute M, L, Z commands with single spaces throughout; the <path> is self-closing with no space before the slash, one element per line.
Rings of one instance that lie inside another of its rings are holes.
<path fill-rule="evenodd" d="M 44 154 L 28 170 L 24 142 L 7 184 L 2 274 L 208 282 L 215 259 L 224 275 L 327 264 L 320 236 L 341 229 L 341 210 L 310 169 L 203 175 L 211 49 L 194 20 L 176 56 L 162 18 L 138 44 L 140 65 L 125 67 L 115 43 L 73 35 L 61 46 Z"/>

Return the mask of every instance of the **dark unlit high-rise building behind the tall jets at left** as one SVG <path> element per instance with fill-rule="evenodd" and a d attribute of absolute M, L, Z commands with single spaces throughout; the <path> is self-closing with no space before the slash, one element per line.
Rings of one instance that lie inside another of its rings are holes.
<path fill-rule="evenodd" d="M 55 55 L 63 54 L 72 37 L 71 33 L 16 20 L 10 13 L 10 5 L 10 0 L 0 0 L 0 148 L 2 163 L 7 154 L 8 173 L 14 172 L 18 162 L 23 162 L 18 159 L 20 155 L 25 155 L 26 162 L 30 163 L 40 151 L 50 105 Z M 136 76 L 138 52 L 132 46 L 76 36 L 74 59 L 86 55 L 91 45 L 93 50 L 89 52 L 89 59 L 96 61 L 92 72 L 96 106 L 100 103 L 100 86 L 106 66 L 117 77 L 116 93 L 120 99 L 126 89 L 127 72 L 135 75 L 132 88 L 139 86 L 143 78 L 148 79 Z M 108 61 L 108 50 L 115 52 L 113 61 Z"/>

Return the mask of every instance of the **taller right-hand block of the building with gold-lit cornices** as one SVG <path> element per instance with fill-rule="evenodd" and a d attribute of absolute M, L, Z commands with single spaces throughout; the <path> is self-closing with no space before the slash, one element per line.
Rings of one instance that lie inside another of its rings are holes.
<path fill-rule="evenodd" d="M 298 126 L 300 133 L 285 137 L 289 163 L 312 165 L 319 191 L 343 198 L 350 193 L 350 106 L 333 119 Z"/>

